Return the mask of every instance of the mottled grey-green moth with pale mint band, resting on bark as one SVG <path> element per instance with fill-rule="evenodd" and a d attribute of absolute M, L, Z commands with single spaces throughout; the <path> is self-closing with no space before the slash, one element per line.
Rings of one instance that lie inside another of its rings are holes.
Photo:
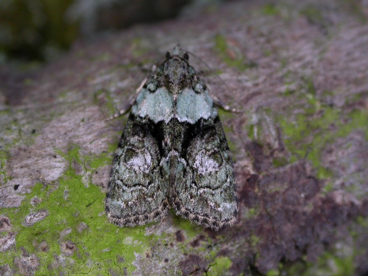
<path fill-rule="evenodd" d="M 105 199 L 107 218 L 118 226 L 160 220 L 170 208 L 216 230 L 237 217 L 233 160 L 216 108 L 220 102 L 188 59 L 176 45 L 131 102 Z"/>

